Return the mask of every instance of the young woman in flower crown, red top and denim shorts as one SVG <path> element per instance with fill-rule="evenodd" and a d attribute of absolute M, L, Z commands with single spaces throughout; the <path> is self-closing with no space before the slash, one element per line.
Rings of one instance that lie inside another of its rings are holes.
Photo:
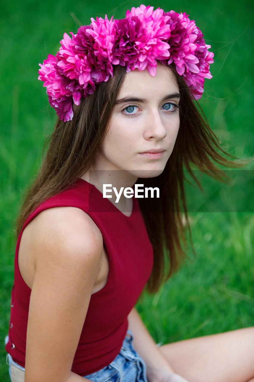
<path fill-rule="evenodd" d="M 134 308 L 183 258 L 183 166 L 232 165 L 193 101 L 208 48 L 185 14 L 141 5 L 40 65 L 59 120 L 18 223 L 13 382 L 254 380 L 253 328 L 159 348 Z"/>

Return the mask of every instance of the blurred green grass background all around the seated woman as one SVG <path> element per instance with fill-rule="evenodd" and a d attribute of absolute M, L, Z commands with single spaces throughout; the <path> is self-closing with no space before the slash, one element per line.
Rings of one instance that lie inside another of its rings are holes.
<path fill-rule="evenodd" d="M 204 110 L 231 154 L 253 157 L 253 14 L 251 0 L 145 2 L 186 11 L 212 45 L 213 78 L 206 80 Z M 32 0 L 1 2 L 0 33 L 0 381 L 8 381 L 3 339 L 8 331 L 13 283 L 15 219 L 21 197 L 40 166 L 45 137 L 56 120 L 38 63 L 55 54 L 64 32 L 90 17 L 121 18 L 137 1 Z M 154 339 L 169 342 L 253 325 L 253 162 L 232 172 L 238 188 L 204 178 L 209 196 L 188 187 L 196 257 L 154 296 L 138 303 Z M 238 174 L 241 174 L 238 175 Z M 210 191 L 212 190 L 212 192 Z M 218 204 L 211 201 L 216 196 Z M 222 199 L 223 198 L 223 199 Z M 221 202 L 222 201 L 222 202 Z M 226 204 L 229 202 L 229 206 Z"/>

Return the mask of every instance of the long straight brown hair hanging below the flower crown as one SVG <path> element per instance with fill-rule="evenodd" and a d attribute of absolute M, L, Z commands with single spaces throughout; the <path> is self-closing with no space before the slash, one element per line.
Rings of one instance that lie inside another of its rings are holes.
<path fill-rule="evenodd" d="M 180 128 L 164 171 L 156 178 L 142 179 L 147 187 L 159 187 L 160 197 L 139 199 L 154 248 L 154 267 L 148 282 L 148 290 L 151 292 L 158 290 L 161 282 L 178 269 L 185 257 L 185 233 L 186 227 L 190 227 L 184 192 L 184 168 L 200 187 L 191 169 L 193 165 L 219 180 L 221 175 L 218 175 L 218 167 L 212 161 L 227 167 L 239 166 L 219 153 L 227 154 L 220 148 L 202 111 L 198 110 L 198 104 L 191 98 L 182 76 L 173 67 L 171 70 L 181 95 Z M 19 215 L 18 234 L 27 217 L 40 203 L 69 188 L 88 171 L 107 132 L 125 74 L 125 67 L 117 66 L 112 79 L 99 84 L 92 95 L 81 99 L 79 106 L 73 106 L 74 116 L 71 121 L 58 119 L 45 160 Z M 183 224 L 181 207 L 186 225 Z"/>

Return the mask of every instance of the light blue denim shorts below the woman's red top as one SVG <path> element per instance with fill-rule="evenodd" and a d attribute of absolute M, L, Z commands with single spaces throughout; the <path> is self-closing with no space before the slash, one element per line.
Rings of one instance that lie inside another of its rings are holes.
<path fill-rule="evenodd" d="M 13 361 L 10 354 L 7 354 L 7 359 L 10 377 L 11 367 L 18 373 L 25 371 L 24 367 L 19 366 Z M 108 366 L 103 367 L 103 369 L 84 376 L 84 378 L 90 379 L 93 382 L 148 382 L 146 378 L 146 364 L 133 347 L 132 332 L 130 330 L 127 331 L 122 348 L 114 361 Z M 21 379 L 17 380 L 21 381 Z M 16 379 L 13 379 L 13 382 L 16 382 Z"/>

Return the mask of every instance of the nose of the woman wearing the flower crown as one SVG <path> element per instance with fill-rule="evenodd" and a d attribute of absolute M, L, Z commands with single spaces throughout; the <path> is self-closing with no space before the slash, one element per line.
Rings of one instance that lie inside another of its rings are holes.
<path fill-rule="evenodd" d="M 145 139 L 156 139 L 157 141 L 161 141 L 166 136 L 166 126 L 164 125 L 159 110 L 151 110 L 146 118 L 146 125 L 144 131 Z"/>

